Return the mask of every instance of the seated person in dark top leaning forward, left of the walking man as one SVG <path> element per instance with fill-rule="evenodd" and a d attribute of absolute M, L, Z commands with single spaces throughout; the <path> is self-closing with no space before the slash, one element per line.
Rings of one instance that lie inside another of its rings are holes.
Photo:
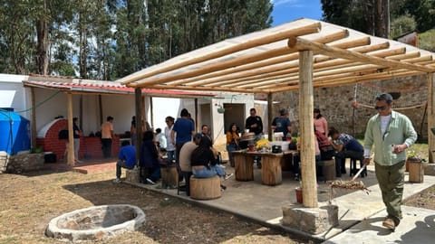
<path fill-rule="evenodd" d="M 364 148 L 353 136 L 339 133 L 337 129 L 331 128 L 329 130 L 329 136 L 333 139 L 331 145 L 337 152 L 335 155 L 335 174 L 337 177 L 342 177 L 342 174 L 346 174 L 346 158 L 364 160 Z"/>

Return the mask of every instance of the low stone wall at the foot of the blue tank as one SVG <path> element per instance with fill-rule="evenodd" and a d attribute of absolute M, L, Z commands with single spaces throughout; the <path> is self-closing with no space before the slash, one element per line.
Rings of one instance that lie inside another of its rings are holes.
<path fill-rule="evenodd" d="M 43 167 L 43 153 L 7 155 L 0 152 L 0 173 L 23 173 L 39 170 Z"/>

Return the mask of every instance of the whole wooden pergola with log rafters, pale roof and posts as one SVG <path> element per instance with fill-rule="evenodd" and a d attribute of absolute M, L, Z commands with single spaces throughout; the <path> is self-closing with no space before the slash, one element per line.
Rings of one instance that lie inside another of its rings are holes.
<path fill-rule="evenodd" d="M 121 81 L 141 89 L 267 93 L 299 90 L 304 206 L 317 207 L 314 88 L 427 74 L 428 126 L 434 127 L 434 53 L 352 29 L 299 19 L 227 39 L 132 73 Z M 269 121 L 272 115 L 269 113 Z M 430 161 L 434 136 L 429 133 Z"/>

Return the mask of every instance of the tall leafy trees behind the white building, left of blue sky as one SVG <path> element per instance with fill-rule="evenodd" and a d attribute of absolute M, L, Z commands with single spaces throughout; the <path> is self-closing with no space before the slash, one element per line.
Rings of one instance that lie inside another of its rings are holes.
<path fill-rule="evenodd" d="M 1 0 L 0 72 L 115 80 L 267 28 L 269 0 Z"/>

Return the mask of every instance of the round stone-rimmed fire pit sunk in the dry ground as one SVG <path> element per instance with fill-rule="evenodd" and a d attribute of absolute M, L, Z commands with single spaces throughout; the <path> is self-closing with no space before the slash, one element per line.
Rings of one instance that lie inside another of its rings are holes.
<path fill-rule="evenodd" d="M 129 205 L 102 205 L 70 211 L 48 223 L 45 234 L 57 239 L 102 239 L 125 231 L 138 230 L 145 213 Z"/>

